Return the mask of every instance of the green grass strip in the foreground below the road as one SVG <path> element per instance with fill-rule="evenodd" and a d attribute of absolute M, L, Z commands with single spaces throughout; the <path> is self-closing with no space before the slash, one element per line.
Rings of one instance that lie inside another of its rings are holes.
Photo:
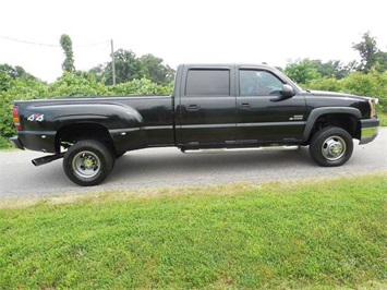
<path fill-rule="evenodd" d="M 386 289 L 387 172 L 0 202 L 1 289 Z"/>

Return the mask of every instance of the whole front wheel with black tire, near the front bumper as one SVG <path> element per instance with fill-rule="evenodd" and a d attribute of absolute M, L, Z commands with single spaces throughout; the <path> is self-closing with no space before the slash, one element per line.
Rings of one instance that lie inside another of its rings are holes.
<path fill-rule="evenodd" d="M 310 144 L 311 157 L 325 167 L 346 164 L 352 156 L 352 136 L 337 126 L 327 126 L 317 131 Z"/>

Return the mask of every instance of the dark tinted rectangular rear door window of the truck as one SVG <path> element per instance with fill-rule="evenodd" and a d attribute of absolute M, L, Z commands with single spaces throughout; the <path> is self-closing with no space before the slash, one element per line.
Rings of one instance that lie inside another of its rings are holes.
<path fill-rule="evenodd" d="M 186 76 L 185 95 L 230 95 L 230 71 L 190 70 Z"/>

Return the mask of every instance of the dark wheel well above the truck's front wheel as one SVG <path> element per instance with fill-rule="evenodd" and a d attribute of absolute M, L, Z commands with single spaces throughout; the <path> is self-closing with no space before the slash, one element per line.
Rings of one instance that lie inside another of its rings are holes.
<path fill-rule="evenodd" d="M 314 122 L 310 138 L 318 130 L 326 126 L 338 126 L 346 130 L 353 138 L 360 138 L 360 126 L 355 116 L 350 113 L 322 114 Z"/>

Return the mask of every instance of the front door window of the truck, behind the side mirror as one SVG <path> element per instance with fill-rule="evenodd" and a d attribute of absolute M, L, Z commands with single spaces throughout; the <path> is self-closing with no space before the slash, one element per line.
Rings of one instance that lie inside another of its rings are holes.
<path fill-rule="evenodd" d="M 268 71 L 240 70 L 239 87 L 241 96 L 279 95 L 282 82 Z"/>

